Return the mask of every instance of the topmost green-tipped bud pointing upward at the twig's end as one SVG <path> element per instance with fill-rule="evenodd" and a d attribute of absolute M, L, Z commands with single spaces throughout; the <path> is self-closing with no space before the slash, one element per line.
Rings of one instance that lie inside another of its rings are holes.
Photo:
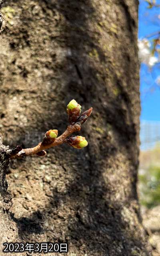
<path fill-rule="evenodd" d="M 76 102 L 76 100 L 71 100 L 67 105 L 67 114 L 69 116 L 70 124 L 74 124 L 80 115 L 81 106 Z"/>

